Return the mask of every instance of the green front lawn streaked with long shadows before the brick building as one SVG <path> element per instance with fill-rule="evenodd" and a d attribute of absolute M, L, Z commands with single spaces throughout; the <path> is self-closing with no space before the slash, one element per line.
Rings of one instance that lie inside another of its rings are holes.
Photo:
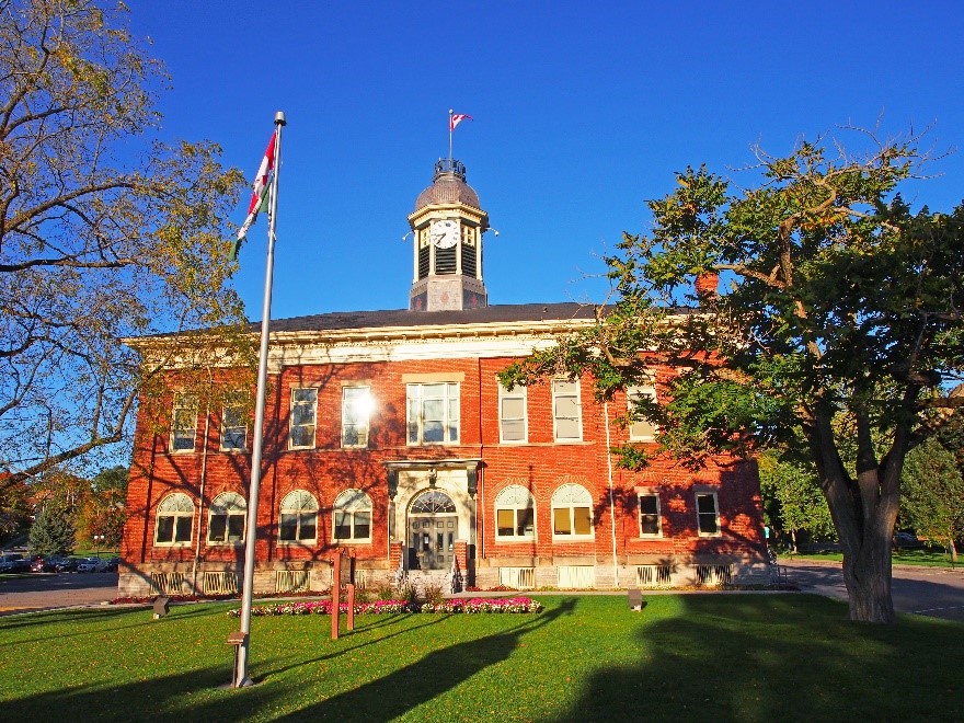
<path fill-rule="evenodd" d="M 3 720 L 961 720 L 964 626 L 804 595 L 541 597 L 540 615 L 254 618 L 226 605 L 0 618 Z"/>

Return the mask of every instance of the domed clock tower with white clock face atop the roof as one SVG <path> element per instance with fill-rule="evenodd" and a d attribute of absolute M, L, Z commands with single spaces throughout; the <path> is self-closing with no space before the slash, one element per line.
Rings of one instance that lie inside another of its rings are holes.
<path fill-rule="evenodd" d="M 482 282 L 482 234 L 489 214 L 466 183 L 466 167 L 451 158 L 435 164 L 432 185 L 409 216 L 414 237 L 412 311 L 452 311 L 489 305 Z"/>

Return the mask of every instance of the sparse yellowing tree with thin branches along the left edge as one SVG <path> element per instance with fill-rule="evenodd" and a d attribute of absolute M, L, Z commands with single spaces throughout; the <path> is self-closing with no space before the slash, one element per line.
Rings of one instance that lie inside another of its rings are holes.
<path fill-rule="evenodd" d="M 0 2 L 0 470 L 10 484 L 125 439 L 173 355 L 237 354 L 228 214 L 243 177 L 211 142 L 154 140 L 167 77 L 123 4 Z M 152 340 L 144 358 L 124 337 Z M 186 374 L 185 371 L 185 374 Z M 202 378 L 204 375 L 202 375 Z"/>

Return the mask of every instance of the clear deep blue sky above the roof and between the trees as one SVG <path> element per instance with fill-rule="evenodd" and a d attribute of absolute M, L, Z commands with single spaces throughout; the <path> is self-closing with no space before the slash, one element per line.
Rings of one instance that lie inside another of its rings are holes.
<path fill-rule="evenodd" d="M 945 2 L 313 2 L 135 0 L 173 90 L 164 136 L 207 138 L 250 180 L 287 114 L 274 318 L 408 303 L 405 217 L 448 153 L 486 234 L 491 303 L 599 300 L 585 280 L 673 172 L 738 172 L 839 124 L 930 127 L 964 145 L 964 4 Z M 964 154 L 911 200 L 964 198 Z M 248 198 L 236 221 L 244 218 Z M 266 218 L 237 287 L 261 317 Z"/>

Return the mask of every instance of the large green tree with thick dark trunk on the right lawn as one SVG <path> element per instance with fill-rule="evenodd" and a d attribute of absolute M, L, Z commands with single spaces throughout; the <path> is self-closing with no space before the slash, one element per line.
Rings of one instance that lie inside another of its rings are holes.
<path fill-rule="evenodd" d="M 785 158 L 758 151 L 761 181 L 733 193 L 705 168 L 677 174 L 649 203 L 652 232 L 623 234 L 606 260 L 615 305 L 503 382 L 589 371 L 606 398 L 654 363 L 675 367 L 670 401 L 636 410 L 659 425 L 659 451 L 695 467 L 764 448 L 808 458 L 851 619 L 893 622 L 904 458 L 964 405 L 944 392 L 964 367 L 964 207 L 911 213 L 897 188 L 926 160 L 917 139 L 853 133 L 858 153 L 822 140 Z M 627 467 L 646 462 L 621 451 Z"/>

